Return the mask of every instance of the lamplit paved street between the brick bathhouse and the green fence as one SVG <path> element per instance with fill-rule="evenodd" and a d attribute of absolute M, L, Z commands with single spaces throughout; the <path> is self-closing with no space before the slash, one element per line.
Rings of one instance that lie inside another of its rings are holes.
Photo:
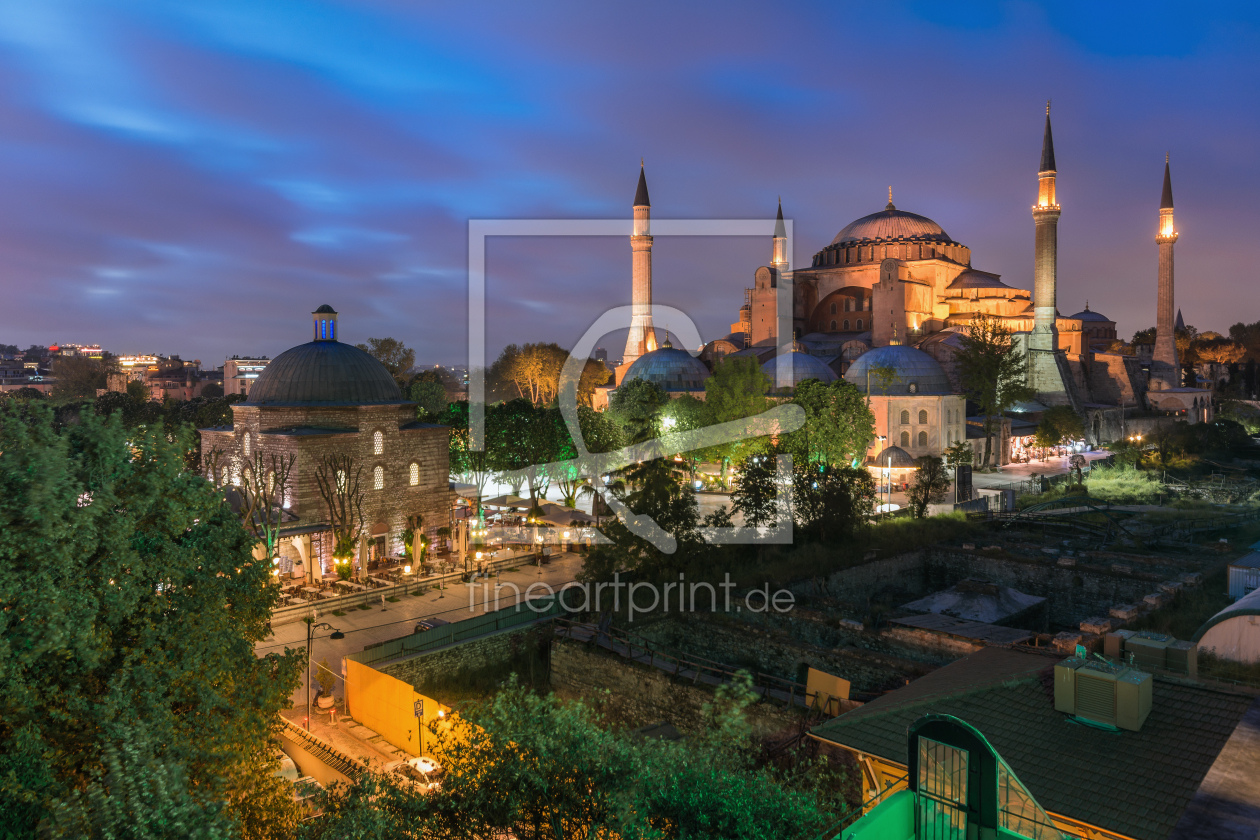
<path fill-rule="evenodd" d="M 504 570 L 499 574 L 498 583 L 503 586 L 514 584 L 523 593 L 530 584 L 546 583 L 556 589 L 577 577 L 582 568 L 582 558 L 577 554 L 559 554 L 547 565 L 542 567 L 542 574 L 537 565 L 525 565 L 517 572 Z M 345 633 L 345 639 L 333 640 L 328 628 L 318 630 L 315 642 L 311 645 L 311 695 L 315 694 L 315 664 L 321 659 L 328 659 L 334 671 L 340 671 L 335 665 L 346 654 L 362 651 L 368 645 L 389 641 L 399 636 L 407 636 L 415 630 L 416 621 L 421 618 L 440 617 L 447 621 L 461 621 L 471 616 L 495 608 L 494 583 L 478 582 L 476 588 L 470 592 L 467 584 L 447 587 L 444 591 L 433 589 L 422 596 L 404 596 L 397 603 L 386 603 L 381 610 L 373 604 L 370 610 L 349 610 L 344 616 L 334 616 L 321 612 L 320 622 L 326 622 Z M 536 589 L 534 594 L 541 591 Z M 472 603 L 470 606 L 470 594 Z M 501 607 L 514 603 L 512 589 L 503 593 Z M 284 652 L 286 647 L 301 649 L 306 646 L 306 622 L 297 621 L 291 625 L 276 627 L 270 636 L 255 646 L 255 652 L 260 656 L 265 654 Z M 341 699 L 343 691 L 339 685 L 334 694 Z M 295 707 L 306 705 L 306 680 L 292 695 Z"/>

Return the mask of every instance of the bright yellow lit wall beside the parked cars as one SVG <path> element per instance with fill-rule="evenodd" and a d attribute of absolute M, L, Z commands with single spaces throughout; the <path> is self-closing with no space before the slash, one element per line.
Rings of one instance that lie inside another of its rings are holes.
<path fill-rule="evenodd" d="M 345 667 L 345 705 L 350 715 L 408 756 L 425 754 L 433 735 L 422 730 L 421 723 L 427 727 L 438 718 L 438 712 L 450 709 L 368 665 L 348 659 Z M 416 718 L 417 700 L 425 701 L 423 722 Z"/>

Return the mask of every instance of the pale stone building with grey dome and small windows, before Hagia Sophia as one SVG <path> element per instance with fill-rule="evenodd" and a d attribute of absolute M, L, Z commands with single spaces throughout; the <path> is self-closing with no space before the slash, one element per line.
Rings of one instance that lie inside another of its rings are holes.
<path fill-rule="evenodd" d="M 966 400 L 922 350 L 903 344 L 876 348 L 849 365 L 844 378 L 871 398 L 876 440 L 868 457 L 893 446 L 912 458 L 940 455 L 966 440 Z"/>

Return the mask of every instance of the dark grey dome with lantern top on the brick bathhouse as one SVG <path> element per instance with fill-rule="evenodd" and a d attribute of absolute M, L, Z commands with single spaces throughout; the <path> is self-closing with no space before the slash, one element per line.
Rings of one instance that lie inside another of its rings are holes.
<path fill-rule="evenodd" d="M 285 350 L 249 387 L 246 406 L 401 406 L 398 383 L 372 354 L 335 338 L 336 312 L 315 312 L 315 340 Z M 331 317 L 329 317 L 331 315 Z"/>

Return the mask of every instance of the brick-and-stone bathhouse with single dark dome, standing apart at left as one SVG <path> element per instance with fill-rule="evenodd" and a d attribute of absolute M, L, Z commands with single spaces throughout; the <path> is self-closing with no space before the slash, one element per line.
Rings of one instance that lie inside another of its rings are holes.
<path fill-rule="evenodd" d="M 296 456 L 284 489 L 281 569 L 315 579 L 333 573 L 333 533 L 316 480 L 325 456 L 349 456 L 362 470 L 362 563 L 402 554 L 408 516 L 422 515 L 432 536 L 449 524 L 454 504 L 446 427 L 416 422 L 415 404 L 384 365 L 338 340 L 336 317 L 320 306 L 312 340 L 267 365 L 248 400 L 232 406 L 232 426 L 200 429 L 202 462 L 218 465 L 218 484 L 239 484 L 258 452 Z"/>

